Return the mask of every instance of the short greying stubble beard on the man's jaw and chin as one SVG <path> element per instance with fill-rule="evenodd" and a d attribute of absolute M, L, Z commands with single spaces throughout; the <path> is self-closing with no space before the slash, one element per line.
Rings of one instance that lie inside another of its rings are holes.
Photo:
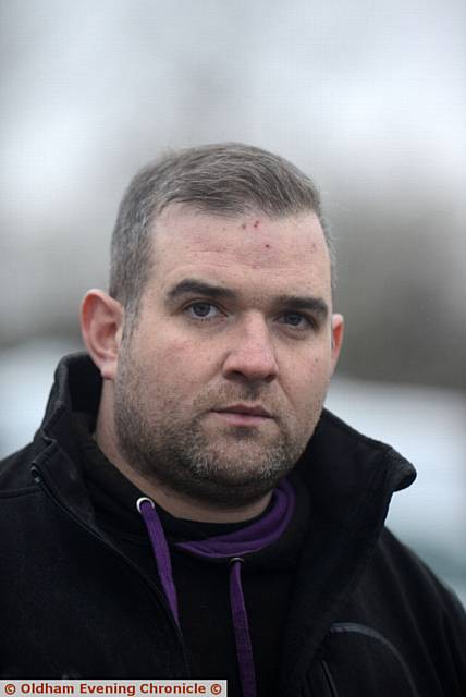
<path fill-rule="evenodd" d="M 186 420 L 177 402 L 149 393 L 142 375 L 131 358 L 120 360 L 114 394 L 120 452 L 151 486 L 164 486 L 208 505 L 235 508 L 271 491 L 302 455 L 321 412 L 321 404 L 315 405 L 312 412 L 318 413 L 308 425 L 310 432 L 296 433 L 278 417 L 272 437 L 265 437 L 260 427 L 232 426 L 219 427 L 212 436 L 205 426 L 209 406 L 259 399 L 253 394 L 257 387 L 244 386 L 242 395 L 232 395 L 230 388 L 206 392 L 193 405 L 195 416 Z"/>

